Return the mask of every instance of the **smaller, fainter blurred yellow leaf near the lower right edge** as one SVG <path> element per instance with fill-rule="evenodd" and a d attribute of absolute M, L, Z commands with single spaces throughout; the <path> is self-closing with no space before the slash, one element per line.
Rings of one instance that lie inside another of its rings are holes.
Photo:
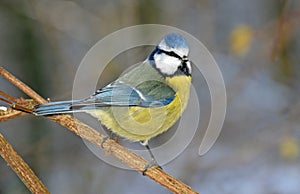
<path fill-rule="evenodd" d="M 299 157 L 298 141 L 294 137 L 284 137 L 279 143 L 279 153 L 285 159 L 296 159 Z"/>

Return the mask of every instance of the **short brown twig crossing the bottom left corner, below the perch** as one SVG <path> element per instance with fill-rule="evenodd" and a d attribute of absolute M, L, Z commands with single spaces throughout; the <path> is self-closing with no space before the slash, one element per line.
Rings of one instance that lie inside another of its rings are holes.
<path fill-rule="evenodd" d="M 32 193 L 49 193 L 45 185 L 0 133 L 0 155 Z"/>

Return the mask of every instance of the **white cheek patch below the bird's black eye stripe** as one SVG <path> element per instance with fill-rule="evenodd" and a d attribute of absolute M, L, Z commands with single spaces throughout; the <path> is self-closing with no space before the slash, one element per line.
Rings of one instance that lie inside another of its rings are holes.
<path fill-rule="evenodd" d="M 178 67 L 181 65 L 180 59 L 169 56 L 165 53 L 155 54 L 154 61 L 156 68 L 166 75 L 174 75 Z"/>

